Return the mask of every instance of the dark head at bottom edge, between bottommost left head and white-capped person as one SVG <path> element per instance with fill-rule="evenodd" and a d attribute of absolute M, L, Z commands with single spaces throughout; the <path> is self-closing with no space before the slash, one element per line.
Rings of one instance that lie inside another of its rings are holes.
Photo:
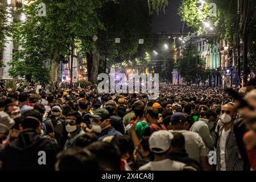
<path fill-rule="evenodd" d="M 93 142 L 86 147 L 96 155 L 101 171 L 119 171 L 121 166 L 121 155 L 117 146 L 108 142 Z"/>

